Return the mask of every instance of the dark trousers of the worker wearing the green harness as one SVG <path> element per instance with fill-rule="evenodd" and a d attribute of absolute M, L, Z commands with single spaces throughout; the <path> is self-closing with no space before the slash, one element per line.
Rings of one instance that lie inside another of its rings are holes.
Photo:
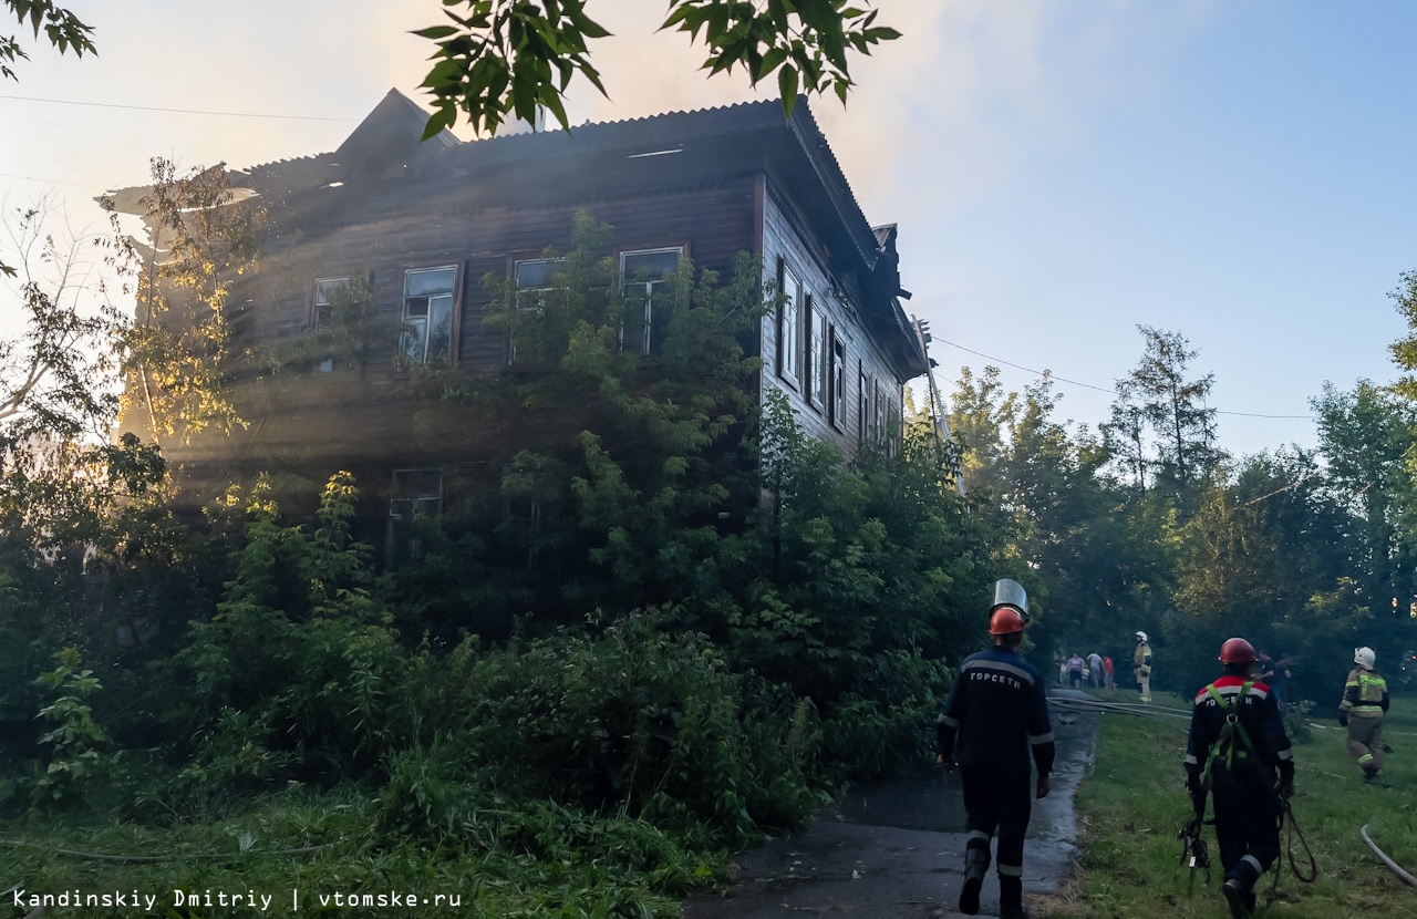
<path fill-rule="evenodd" d="M 1280 857 L 1280 798 L 1274 773 L 1264 767 L 1237 764 L 1212 767 L 1212 800 L 1216 808 L 1216 847 L 1226 881 L 1238 879 L 1246 889 Z"/>

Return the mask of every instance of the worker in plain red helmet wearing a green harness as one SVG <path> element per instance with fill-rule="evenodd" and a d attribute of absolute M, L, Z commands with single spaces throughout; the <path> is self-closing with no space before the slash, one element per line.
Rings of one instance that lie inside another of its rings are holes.
<path fill-rule="evenodd" d="M 1254 886 L 1280 857 L 1280 817 L 1294 794 L 1294 753 L 1280 705 L 1250 675 L 1254 647 L 1244 638 L 1220 645 L 1224 672 L 1196 694 L 1186 742 L 1186 793 L 1216 808 L 1216 845 L 1226 869 L 1221 888 L 1230 915 L 1254 912 Z"/>

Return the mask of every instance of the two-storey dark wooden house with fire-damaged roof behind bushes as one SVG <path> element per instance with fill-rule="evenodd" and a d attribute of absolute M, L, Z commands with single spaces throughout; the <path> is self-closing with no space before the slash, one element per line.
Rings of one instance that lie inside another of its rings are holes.
<path fill-rule="evenodd" d="M 761 255 L 786 296 L 750 343 L 762 357 L 755 393 L 785 393 L 805 428 L 847 455 L 898 431 L 903 384 L 927 357 L 900 305 L 897 230 L 862 214 L 805 101 L 791 118 L 777 101 L 752 102 L 468 143 L 446 132 L 419 142 L 425 122 L 390 91 L 333 153 L 230 173 L 272 217 L 264 267 L 230 302 L 244 345 L 319 325 L 354 277 L 398 330 L 359 373 L 310 374 L 296 411 L 247 404 L 247 427 L 164 442 L 193 499 L 231 477 L 300 467 L 356 471 L 390 520 L 438 512 L 444 465 L 476 460 L 506 428 L 445 445 L 415 437 L 400 377 L 429 360 L 507 372 L 512 342 L 482 322 L 493 294 L 480 279 L 541 284 L 541 252 L 568 244 L 581 208 L 614 225 L 625 277 L 650 284 L 682 257 L 727 271 L 738 251 Z M 119 210 L 136 213 L 140 194 L 118 193 Z M 625 338 L 652 350 L 655 316 Z"/>

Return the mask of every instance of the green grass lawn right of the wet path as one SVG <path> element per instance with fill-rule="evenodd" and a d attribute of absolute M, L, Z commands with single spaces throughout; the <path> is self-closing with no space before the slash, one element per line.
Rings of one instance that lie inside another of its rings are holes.
<path fill-rule="evenodd" d="M 1173 695 L 1158 694 L 1156 703 L 1187 711 Z M 1383 867 L 1359 835 L 1367 824 L 1372 840 L 1408 874 L 1417 874 L 1417 701 L 1396 698 L 1389 712 L 1384 737 L 1394 750 L 1383 769 L 1389 789 L 1363 784 L 1336 720 L 1309 723 L 1321 726 L 1306 739 L 1294 737 L 1292 807 L 1319 875 L 1314 884 L 1295 879 L 1287 831 L 1281 831 L 1285 852 L 1280 857 L 1278 889 L 1271 899 L 1274 874 L 1261 879 L 1255 916 L 1417 916 L 1417 889 Z M 1102 715 L 1097 760 L 1077 797 L 1083 847 L 1078 875 L 1064 896 L 1037 903 L 1036 913 L 1050 919 L 1229 916 L 1212 827 L 1206 828 L 1213 861 L 1210 885 L 1204 885 L 1202 872 L 1195 893 L 1186 892 L 1189 869 L 1180 865 L 1178 838 L 1190 815 L 1183 790 L 1185 753 L 1180 719 Z M 1308 874 L 1309 859 L 1298 837 L 1294 859 Z"/>

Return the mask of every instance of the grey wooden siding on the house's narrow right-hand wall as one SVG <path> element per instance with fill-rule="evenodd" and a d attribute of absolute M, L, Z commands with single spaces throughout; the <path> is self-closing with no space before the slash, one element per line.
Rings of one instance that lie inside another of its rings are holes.
<path fill-rule="evenodd" d="M 896 376 L 880 345 L 867 335 L 856 306 L 860 303 L 860 292 L 854 278 L 833 272 L 826 248 L 812 233 L 802 214 L 792 207 L 781 189 L 771 180 L 767 191 L 762 208 L 762 260 L 767 277 L 777 279 L 778 265 L 785 264 L 802 282 L 805 294 L 809 294 L 812 302 L 826 313 L 828 323 L 845 346 L 842 384 L 845 393 L 840 400 L 840 423 L 832 424 L 828 400 L 823 399 L 818 403 L 805 397 L 799 379 L 784 379 L 777 372 L 781 363 L 778 360 L 779 347 L 784 347 L 785 343 L 778 342 L 778 318 L 775 315 L 767 316 L 762 322 L 764 391 L 774 389 L 785 393 L 808 435 L 836 444 L 846 455 L 853 455 L 860 444 L 860 433 L 866 431 L 870 435 L 877 430 L 874 389 L 880 386 L 883 399 L 890 403 L 888 407 L 884 407 L 884 414 L 898 418 L 901 387 L 905 380 Z M 806 296 L 803 296 L 803 306 L 805 303 Z M 799 340 L 795 347 L 799 349 L 799 353 L 805 346 L 803 336 L 808 329 L 805 321 L 798 322 Z M 825 336 L 825 340 L 826 346 L 830 347 L 832 338 Z M 803 362 L 799 359 L 798 364 L 802 366 Z M 803 377 L 811 373 L 805 366 L 802 370 Z M 862 399 L 863 376 L 867 400 Z M 870 413 L 866 424 L 862 423 L 863 407 Z"/>

